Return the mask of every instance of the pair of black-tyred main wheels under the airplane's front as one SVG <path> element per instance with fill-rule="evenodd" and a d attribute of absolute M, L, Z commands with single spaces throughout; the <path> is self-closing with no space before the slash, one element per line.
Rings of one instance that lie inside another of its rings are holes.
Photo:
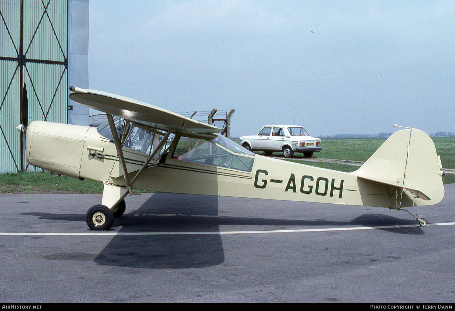
<path fill-rule="evenodd" d="M 116 206 L 109 209 L 107 206 L 97 204 L 92 206 L 86 214 L 86 223 L 91 230 L 109 230 L 115 217 L 120 217 L 126 210 L 125 200 L 121 200 Z"/>

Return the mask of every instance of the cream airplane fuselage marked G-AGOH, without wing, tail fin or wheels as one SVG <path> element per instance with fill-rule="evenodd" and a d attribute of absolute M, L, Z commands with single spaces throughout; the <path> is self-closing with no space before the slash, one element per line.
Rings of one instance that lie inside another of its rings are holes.
<path fill-rule="evenodd" d="M 114 142 L 100 135 L 96 128 L 35 121 L 28 125 L 26 137 L 27 161 L 31 165 L 105 185 L 127 186 Z M 404 207 L 430 203 L 407 192 L 401 196 L 399 188 L 365 181 L 356 172 L 332 171 L 232 152 L 233 157 L 243 156 L 251 163 L 235 169 L 226 164 L 216 166 L 176 156 L 176 144 L 177 139 L 174 139 L 167 153 L 157 155 L 154 162 L 158 158 L 161 161 L 147 166 L 132 188 L 338 205 L 397 207 L 400 201 Z M 125 145 L 122 151 L 132 180 L 149 155 Z"/>

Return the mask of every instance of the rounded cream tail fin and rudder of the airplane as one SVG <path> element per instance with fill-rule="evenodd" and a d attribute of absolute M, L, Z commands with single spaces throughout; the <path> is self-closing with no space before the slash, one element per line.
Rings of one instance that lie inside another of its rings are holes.
<path fill-rule="evenodd" d="M 354 174 L 410 192 L 412 205 L 433 205 L 444 197 L 440 158 L 433 140 L 421 130 L 395 132 Z"/>

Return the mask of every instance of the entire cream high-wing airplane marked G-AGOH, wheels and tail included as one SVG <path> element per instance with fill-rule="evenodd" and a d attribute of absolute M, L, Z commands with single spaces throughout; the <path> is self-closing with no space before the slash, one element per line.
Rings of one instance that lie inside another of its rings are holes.
<path fill-rule="evenodd" d="M 440 158 L 420 130 L 395 132 L 357 171 L 344 173 L 256 155 L 217 127 L 137 100 L 70 90 L 71 100 L 106 112 L 107 124 L 27 125 L 25 117 L 18 130 L 26 134 L 31 165 L 104 183 L 101 204 L 86 214 L 92 230 L 109 229 L 133 189 L 394 210 L 433 205 L 444 196 Z"/>

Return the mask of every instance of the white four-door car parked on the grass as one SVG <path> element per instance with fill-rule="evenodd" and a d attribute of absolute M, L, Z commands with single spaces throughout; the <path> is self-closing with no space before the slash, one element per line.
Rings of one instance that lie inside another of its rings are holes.
<path fill-rule="evenodd" d="M 240 137 L 240 145 L 250 151 L 283 152 L 285 158 L 292 158 L 294 152 L 301 152 L 311 158 L 314 151 L 322 149 L 321 140 L 311 137 L 297 125 L 265 125 L 258 135 Z"/>

